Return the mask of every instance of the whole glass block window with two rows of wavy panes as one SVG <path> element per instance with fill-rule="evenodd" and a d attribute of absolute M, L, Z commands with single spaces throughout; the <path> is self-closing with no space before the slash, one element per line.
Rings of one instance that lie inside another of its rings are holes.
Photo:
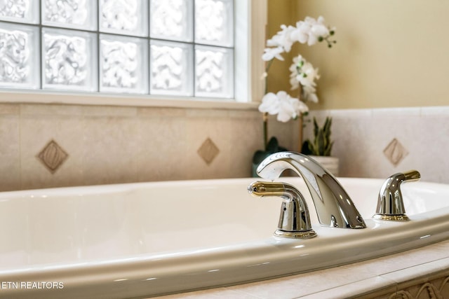
<path fill-rule="evenodd" d="M 0 88 L 233 98 L 234 1 L 0 1 Z"/>

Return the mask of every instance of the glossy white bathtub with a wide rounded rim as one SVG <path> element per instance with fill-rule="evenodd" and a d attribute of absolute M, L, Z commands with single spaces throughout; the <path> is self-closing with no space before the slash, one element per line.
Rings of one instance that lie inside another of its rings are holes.
<path fill-rule="evenodd" d="M 145 298 L 364 260 L 449 239 L 449 185 L 403 183 L 410 221 L 373 220 L 384 180 L 340 179 L 364 229 L 274 237 L 281 199 L 254 179 L 0 193 L 0 298 Z"/>

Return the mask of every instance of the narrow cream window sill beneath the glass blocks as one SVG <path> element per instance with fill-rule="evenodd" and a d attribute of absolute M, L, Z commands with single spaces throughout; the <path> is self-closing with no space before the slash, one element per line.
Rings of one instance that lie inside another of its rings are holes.
<path fill-rule="evenodd" d="M 1 90 L 0 103 L 71 104 L 87 106 L 143 106 L 191 109 L 254 110 L 259 103 L 236 102 L 234 99 L 130 95 L 107 93 L 61 92 L 42 90 Z"/>

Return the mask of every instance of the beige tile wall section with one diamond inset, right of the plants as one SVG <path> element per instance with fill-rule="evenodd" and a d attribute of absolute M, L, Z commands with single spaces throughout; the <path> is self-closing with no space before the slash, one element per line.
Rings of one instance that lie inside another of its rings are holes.
<path fill-rule="evenodd" d="M 449 183 L 449 107 L 312 111 L 333 117 L 340 176 L 387 178 L 417 169 L 422 181 Z M 304 130 L 311 137 L 311 126 Z M 396 162 L 396 163 L 395 163 Z"/>

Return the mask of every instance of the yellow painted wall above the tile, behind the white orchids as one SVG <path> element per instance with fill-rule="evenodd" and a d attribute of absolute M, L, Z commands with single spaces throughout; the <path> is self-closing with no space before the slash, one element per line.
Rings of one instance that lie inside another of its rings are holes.
<path fill-rule="evenodd" d="M 269 36 L 307 15 L 337 27 L 337 45 L 298 45 L 270 70 L 269 90 L 290 90 L 301 53 L 321 74 L 311 109 L 449 105 L 449 1 L 269 0 Z"/>

